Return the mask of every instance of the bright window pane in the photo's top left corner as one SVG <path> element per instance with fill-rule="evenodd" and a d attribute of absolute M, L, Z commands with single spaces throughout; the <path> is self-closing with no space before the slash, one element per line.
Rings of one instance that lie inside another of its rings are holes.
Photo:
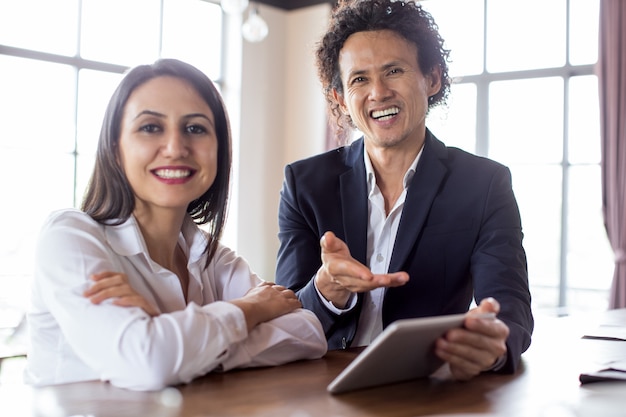
<path fill-rule="evenodd" d="M 77 22 L 78 0 L 0 0 L 0 44 L 75 55 Z"/>

